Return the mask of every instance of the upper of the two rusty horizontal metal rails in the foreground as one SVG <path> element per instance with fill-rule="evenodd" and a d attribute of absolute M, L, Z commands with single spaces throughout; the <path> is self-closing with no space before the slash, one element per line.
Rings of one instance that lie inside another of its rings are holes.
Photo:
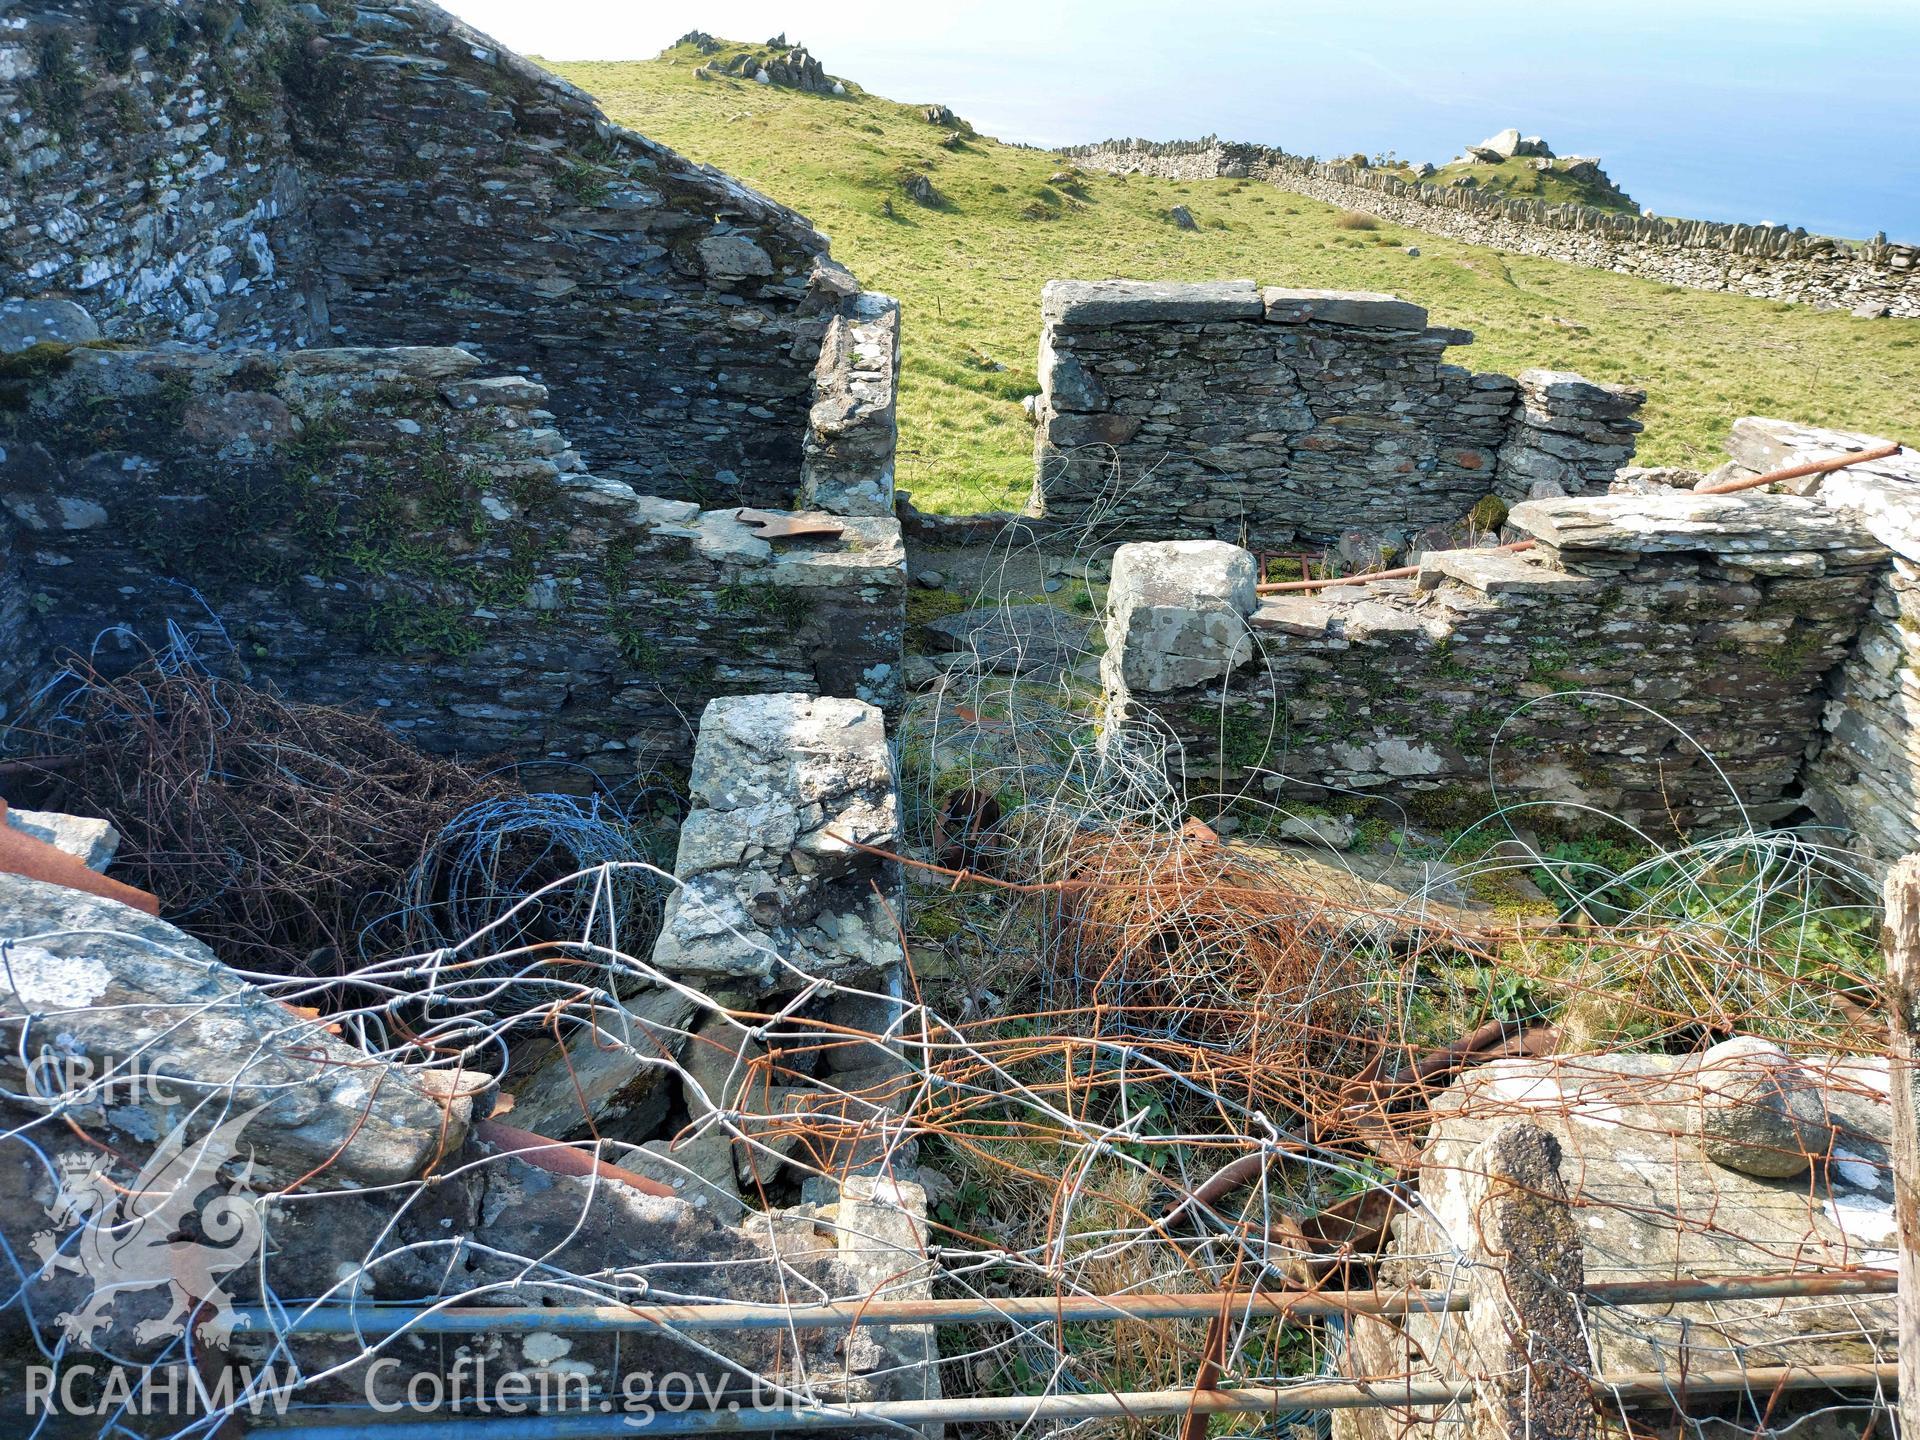
<path fill-rule="evenodd" d="M 1697 1281 L 1596 1281 L 1597 1306 L 1697 1300 L 1786 1300 L 1893 1294 L 1893 1271 L 1722 1275 Z M 1210 1315 L 1432 1315 L 1467 1309 L 1452 1290 L 1229 1290 L 1217 1294 L 1021 1296 L 1008 1300 L 872 1300 L 826 1306 L 313 1306 L 275 1315 L 236 1308 L 255 1334 L 488 1334 L 528 1331 L 845 1331 L 860 1325 L 1098 1323 Z"/>

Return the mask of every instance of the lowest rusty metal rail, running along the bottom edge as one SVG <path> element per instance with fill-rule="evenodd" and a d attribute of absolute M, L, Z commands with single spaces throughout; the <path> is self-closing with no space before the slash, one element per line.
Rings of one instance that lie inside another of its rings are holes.
<path fill-rule="evenodd" d="M 1749 1369 L 1667 1375 L 1630 1371 L 1596 1375 L 1599 1402 L 1670 1400 L 1707 1394 L 1774 1394 L 1780 1390 L 1893 1390 L 1899 1365 L 1755 1365 Z M 1129 1390 L 1085 1396 L 958 1396 L 952 1400 L 874 1400 L 847 1405 L 780 1409 L 689 1409 L 639 1415 L 518 1415 L 513 1419 L 459 1421 L 457 1434 L 470 1440 L 624 1440 L 647 1434 L 766 1434 L 774 1430 L 843 1430 L 897 1425 L 956 1425 L 1000 1421 L 1089 1421 L 1162 1415 L 1284 1415 L 1302 1409 L 1361 1409 L 1452 1405 L 1473 1394 L 1469 1380 L 1308 1380 L 1288 1386 L 1240 1390 Z M 378 1425 L 298 1427 L 303 1440 L 447 1440 L 455 1423 L 430 1421 Z M 253 1434 L 273 1434 L 255 1428 Z"/>

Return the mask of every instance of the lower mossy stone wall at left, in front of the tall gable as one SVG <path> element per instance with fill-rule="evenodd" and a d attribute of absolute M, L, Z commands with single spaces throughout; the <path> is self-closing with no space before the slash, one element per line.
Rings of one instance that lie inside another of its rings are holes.
<path fill-rule="evenodd" d="M 447 348 L 40 346 L 0 392 L 0 695 L 182 628 L 426 749 L 630 774 L 712 695 L 897 695 L 904 555 L 881 516 L 636 495 L 547 388 Z M 15 639 L 15 634 L 23 636 Z"/>

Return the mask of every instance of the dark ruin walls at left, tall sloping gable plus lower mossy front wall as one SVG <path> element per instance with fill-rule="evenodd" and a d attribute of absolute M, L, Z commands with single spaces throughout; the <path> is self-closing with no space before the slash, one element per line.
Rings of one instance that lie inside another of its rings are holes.
<path fill-rule="evenodd" d="M 799 215 L 430 4 L 48 0 L 0 115 L 8 720 L 169 624 L 605 774 L 714 695 L 893 703 L 899 307 Z"/>

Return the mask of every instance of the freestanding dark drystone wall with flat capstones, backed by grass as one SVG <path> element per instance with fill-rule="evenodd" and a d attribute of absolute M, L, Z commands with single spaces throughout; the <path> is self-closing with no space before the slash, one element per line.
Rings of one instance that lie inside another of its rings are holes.
<path fill-rule="evenodd" d="M 1110 538 L 1400 549 L 1486 495 L 1605 490 L 1645 396 L 1444 363 L 1471 340 L 1394 296 L 1054 280 L 1031 509 Z"/>

